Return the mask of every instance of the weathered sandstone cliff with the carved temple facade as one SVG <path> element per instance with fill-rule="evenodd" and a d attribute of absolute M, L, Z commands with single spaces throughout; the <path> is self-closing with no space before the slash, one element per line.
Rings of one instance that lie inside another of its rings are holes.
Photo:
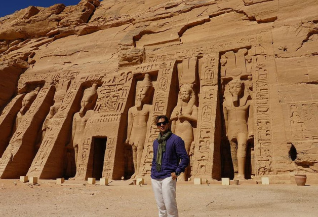
<path fill-rule="evenodd" d="M 305 173 L 318 182 L 317 54 L 315 0 L 17 11 L 0 18 L 0 177 L 149 178 L 152 119 L 167 114 L 189 148 L 185 179 Z M 145 77 L 153 91 L 140 104 Z M 126 142 L 135 106 L 148 117 L 138 169 Z"/>

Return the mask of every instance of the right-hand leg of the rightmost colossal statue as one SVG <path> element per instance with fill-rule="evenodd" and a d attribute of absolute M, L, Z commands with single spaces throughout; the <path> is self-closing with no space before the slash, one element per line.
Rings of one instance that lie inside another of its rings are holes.
<path fill-rule="evenodd" d="M 239 179 L 245 179 L 246 143 L 247 135 L 245 133 L 237 134 L 237 164 L 239 166 L 237 178 Z"/>

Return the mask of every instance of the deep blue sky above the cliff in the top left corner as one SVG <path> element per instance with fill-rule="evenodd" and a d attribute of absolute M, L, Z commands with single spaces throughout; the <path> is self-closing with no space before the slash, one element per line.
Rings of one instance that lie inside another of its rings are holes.
<path fill-rule="evenodd" d="M 17 10 L 27 8 L 28 6 L 50 7 L 62 3 L 65 6 L 77 5 L 81 0 L 3 0 L 0 4 L 0 17 L 12 14 Z"/>

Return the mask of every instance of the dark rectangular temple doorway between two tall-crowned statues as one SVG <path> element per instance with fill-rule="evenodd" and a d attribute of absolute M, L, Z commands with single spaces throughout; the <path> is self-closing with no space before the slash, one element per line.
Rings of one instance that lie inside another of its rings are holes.
<path fill-rule="evenodd" d="M 107 138 L 94 137 L 93 177 L 99 180 L 103 174 Z"/>

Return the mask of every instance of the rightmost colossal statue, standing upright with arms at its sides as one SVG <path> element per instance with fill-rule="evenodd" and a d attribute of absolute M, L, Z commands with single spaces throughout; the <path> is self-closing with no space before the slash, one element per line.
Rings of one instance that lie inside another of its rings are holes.
<path fill-rule="evenodd" d="M 228 84 L 230 94 L 224 93 L 223 113 L 226 135 L 230 142 L 231 158 L 237 179 L 245 179 L 247 141 L 254 137 L 253 103 L 243 82 L 233 79 Z"/>

